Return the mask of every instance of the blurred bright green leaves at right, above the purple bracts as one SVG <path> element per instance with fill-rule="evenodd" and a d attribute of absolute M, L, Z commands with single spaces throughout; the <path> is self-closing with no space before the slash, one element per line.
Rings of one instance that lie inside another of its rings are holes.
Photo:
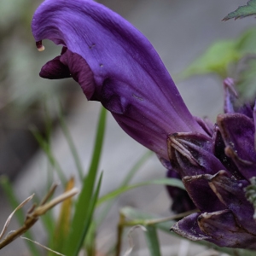
<path fill-rule="evenodd" d="M 189 67 L 180 77 L 216 74 L 220 79 L 236 79 L 236 90 L 242 101 L 250 101 L 256 95 L 256 28 L 250 28 L 240 37 L 218 40 Z"/>

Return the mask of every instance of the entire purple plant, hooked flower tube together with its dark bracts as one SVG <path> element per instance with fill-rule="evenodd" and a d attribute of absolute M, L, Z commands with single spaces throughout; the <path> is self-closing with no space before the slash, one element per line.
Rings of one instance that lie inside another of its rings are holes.
<path fill-rule="evenodd" d="M 189 113 L 147 38 L 101 4 L 46 0 L 33 16 L 32 33 L 38 49 L 45 38 L 62 45 L 42 77 L 72 77 L 88 100 L 102 102 L 131 137 L 158 154 L 169 175 L 175 171 L 183 179 L 200 212 L 172 230 L 218 246 L 256 249 L 254 210 L 244 193 L 256 174 L 256 110 L 234 105 L 232 79 L 224 83 L 225 113 L 212 125 Z M 191 201 L 180 209 L 189 207 Z"/>

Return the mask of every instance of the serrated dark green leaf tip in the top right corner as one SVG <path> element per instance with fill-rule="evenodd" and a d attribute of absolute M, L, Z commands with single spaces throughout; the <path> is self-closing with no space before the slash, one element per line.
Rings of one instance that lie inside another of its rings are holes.
<path fill-rule="evenodd" d="M 250 0 L 247 2 L 247 5 L 239 6 L 234 12 L 226 15 L 223 20 L 236 20 L 251 15 L 256 15 L 256 0 Z"/>

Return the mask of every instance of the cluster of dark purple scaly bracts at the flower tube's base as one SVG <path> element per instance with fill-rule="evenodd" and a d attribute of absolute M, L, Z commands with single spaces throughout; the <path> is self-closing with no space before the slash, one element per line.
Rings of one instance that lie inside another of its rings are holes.
<path fill-rule="evenodd" d="M 172 230 L 220 247 L 256 249 L 254 209 L 245 193 L 249 179 L 256 176 L 256 110 L 248 104 L 236 107 L 233 83 L 224 80 L 225 113 L 218 115 L 212 138 L 195 132 L 178 132 L 168 138 L 172 167 L 200 210 Z"/>

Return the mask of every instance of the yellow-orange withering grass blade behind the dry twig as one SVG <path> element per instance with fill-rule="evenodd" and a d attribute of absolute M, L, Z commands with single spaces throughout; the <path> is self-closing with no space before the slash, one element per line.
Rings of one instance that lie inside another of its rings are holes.
<path fill-rule="evenodd" d="M 65 192 L 73 189 L 74 187 L 74 179 L 73 177 L 67 182 L 67 186 Z M 71 222 L 71 212 L 73 206 L 73 198 L 68 198 L 67 200 L 61 203 L 61 211 L 59 214 L 59 218 L 55 224 L 55 230 L 53 234 L 53 239 L 50 241 L 50 248 L 56 252 L 62 252 L 63 247 L 65 245 L 69 230 L 70 230 L 70 222 Z M 55 255 L 55 253 L 49 252 L 50 256 Z"/>

